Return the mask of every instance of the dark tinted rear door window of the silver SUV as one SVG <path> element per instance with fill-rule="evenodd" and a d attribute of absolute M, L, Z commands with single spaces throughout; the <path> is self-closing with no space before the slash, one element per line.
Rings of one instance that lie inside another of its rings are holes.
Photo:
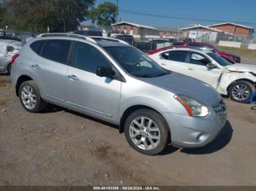
<path fill-rule="evenodd" d="M 69 40 L 48 40 L 42 51 L 42 57 L 58 63 L 67 63 L 70 44 Z"/>

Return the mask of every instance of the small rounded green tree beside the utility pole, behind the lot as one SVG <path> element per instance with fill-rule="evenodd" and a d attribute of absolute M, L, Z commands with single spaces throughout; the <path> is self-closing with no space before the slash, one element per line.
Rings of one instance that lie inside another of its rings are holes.
<path fill-rule="evenodd" d="M 116 4 L 105 2 L 97 8 L 91 9 L 91 22 L 97 22 L 99 26 L 110 26 L 116 22 Z"/>

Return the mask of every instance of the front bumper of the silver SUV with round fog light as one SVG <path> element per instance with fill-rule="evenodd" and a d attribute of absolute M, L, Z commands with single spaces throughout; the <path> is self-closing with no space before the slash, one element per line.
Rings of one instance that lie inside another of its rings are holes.
<path fill-rule="evenodd" d="M 203 147 L 213 141 L 227 122 L 227 114 L 216 114 L 210 109 L 207 117 L 190 117 L 183 114 L 165 113 L 170 127 L 173 146 L 181 148 Z"/>

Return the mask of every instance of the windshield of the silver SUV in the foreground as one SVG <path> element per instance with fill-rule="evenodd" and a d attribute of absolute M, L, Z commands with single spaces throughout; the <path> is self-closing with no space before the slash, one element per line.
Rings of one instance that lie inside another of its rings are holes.
<path fill-rule="evenodd" d="M 170 74 L 162 69 L 151 58 L 135 47 L 105 47 L 110 55 L 129 73 L 135 77 L 158 77 Z"/>

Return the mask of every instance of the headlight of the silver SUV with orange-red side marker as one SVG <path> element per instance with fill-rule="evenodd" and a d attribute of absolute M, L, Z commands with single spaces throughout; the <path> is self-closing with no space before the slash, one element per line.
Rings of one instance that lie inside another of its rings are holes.
<path fill-rule="evenodd" d="M 195 101 L 195 99 L 189 98 L 185 95 L 174 95 L 174 98 L 184 106 L 189 116 L 206 117 L 209 114 L 208 108 L 199 101 Z"/>

